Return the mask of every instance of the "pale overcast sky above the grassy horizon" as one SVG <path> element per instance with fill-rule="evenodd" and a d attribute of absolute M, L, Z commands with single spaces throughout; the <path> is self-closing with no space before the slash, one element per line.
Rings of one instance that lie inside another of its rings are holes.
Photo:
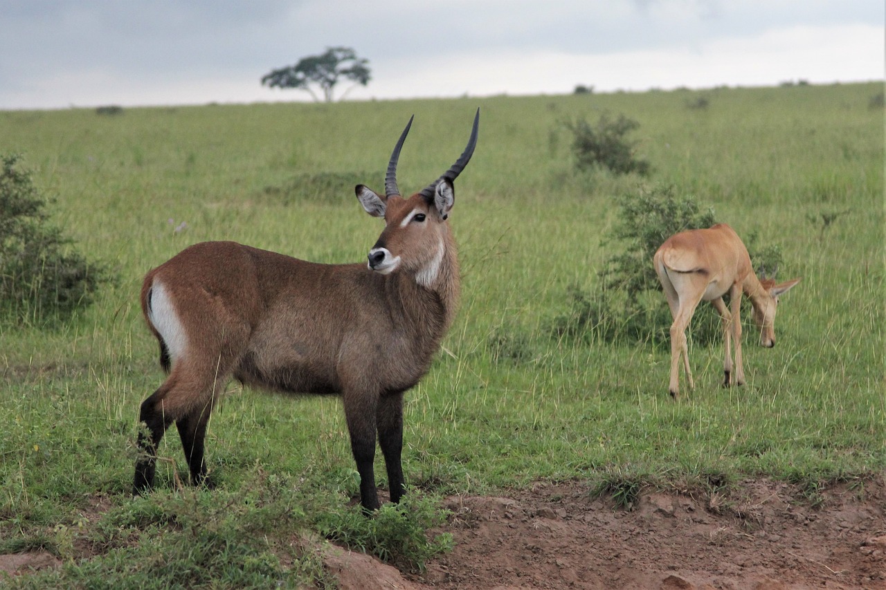
<path fill-rule="evenodd" d="M 884 19 L 882 0 L 0 0 L 0 109 L 311 100 L 260 78 L 337 45 L 369 59 L 362 100 L 882 80 Z"/>

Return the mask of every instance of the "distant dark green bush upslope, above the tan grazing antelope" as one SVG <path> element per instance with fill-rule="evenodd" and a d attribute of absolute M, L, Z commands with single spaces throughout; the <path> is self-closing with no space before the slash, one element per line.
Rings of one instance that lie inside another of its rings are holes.
<path fill-rule="evenodd" d="M 566 121 L 564 125 L 574 136 L 572 151 L 579 170 L 606 167 L 620 175 L 632 172 L 649 175 L 649 162 L 637 157 L 634 150 L 636 142 L 628 141 L 625 137 L 640 127 L 637 121 L 628 119 L 623 114 L 612 120 L 603 113 L 595 127 L 591 127 L 584 119 Z"/>

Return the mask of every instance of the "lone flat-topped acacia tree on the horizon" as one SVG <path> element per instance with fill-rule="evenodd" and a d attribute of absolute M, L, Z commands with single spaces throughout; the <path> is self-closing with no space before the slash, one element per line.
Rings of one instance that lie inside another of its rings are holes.
<path fill-rule="evenodd" d="M 328 47 L 321 55 L 311 55 L 299 59 L 295 66 L 281 67 L 261 78 L 261 84 L 270 88 L 297 88 L 307 90 L 320 102 L 312 84 L 323 90 L 323 100 L 332 102 L 332 91 L 341 79 L 351 80 L 354 85 L 347 89 L 341 98 L 357 84 L 366 86 L 369 82 L 368 59 L 358 58 L 350 47 Z"/>

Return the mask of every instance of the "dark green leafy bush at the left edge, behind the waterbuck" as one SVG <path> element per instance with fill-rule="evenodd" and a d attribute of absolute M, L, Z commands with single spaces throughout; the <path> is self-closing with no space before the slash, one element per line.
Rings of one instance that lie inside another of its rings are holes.
<path fill-rule="evenodd" d="M 18 155 L 0 156 L 0 318 L 43 324 L 89 306 L 112 276 L 49 222 Z"/>

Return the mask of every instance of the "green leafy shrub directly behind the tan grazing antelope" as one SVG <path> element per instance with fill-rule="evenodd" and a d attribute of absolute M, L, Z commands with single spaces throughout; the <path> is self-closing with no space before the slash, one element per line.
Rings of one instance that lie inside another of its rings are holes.
<path fill-rule="evenodd" d="M 678 198 L 673 192 L 672 187 L 657 187 L 618 198 L 618 222 L 602 240 L 613 253 L 603 261 L 594 290 L 570 289 L 571 307 L 554 322 L 557 338 L 603 342 L 650 338 L 665 342 L 670 338 L 673 318 L 652 258 L 658 246 L 673 234 L 708 228 L 716 222 L 711 208 L 702 211 L 692 198 Z M 781 265 L 781 249 L 777 245 L 758 246 L 756 232 L 744 237 L 743 242 L 756 267 L 772 273 Z M 742 305 L 749 304 L 744 301 Z M 742 317 L 750 317 L 747 309 Z M 689 334 L 702 345 L 719 341 L 722 326 L 711 306 L 699 306 Z"/>

